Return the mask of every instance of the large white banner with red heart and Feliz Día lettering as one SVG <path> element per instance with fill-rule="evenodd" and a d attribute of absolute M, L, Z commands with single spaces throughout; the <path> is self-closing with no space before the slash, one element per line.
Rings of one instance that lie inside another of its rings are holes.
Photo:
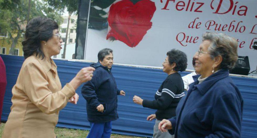
<path fill-rule="evenodd" d="M 187 69 L 193 69 L 202 33 L 221 32 L 238 39 L 238 55 L 249 56 L 252 71 L 256 6 L 256 0 L 92 1 L 85 59 L 97 61 L 99 50 L 111 48 L 115 63 L 161 67 L 167 51 L 175 48 L 187 54 Z"/>

